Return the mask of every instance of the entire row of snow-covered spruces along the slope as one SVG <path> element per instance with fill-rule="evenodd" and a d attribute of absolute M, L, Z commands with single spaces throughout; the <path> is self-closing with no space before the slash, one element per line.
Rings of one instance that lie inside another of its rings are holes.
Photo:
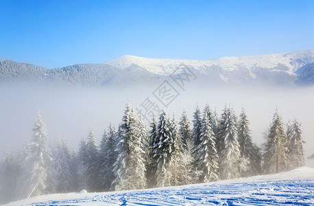
<path fill-rule="evenodd" d="M 237 117 L 225 106 L 221 117 L 198 106 L 190 122 L 162 111 L 149 129 L 128 103 L 116 130 L 109 126 L 97 146 L 93 131 L 70 152 L 60 140 L 51 148 L 38 114 L 32 141 L 16 157 L 6 150 L 0 168 L 0 203 L 61 192 L 134 190 L 207 183 L 269 174 L 304 165 L 302 130 L 295 120 L 287 130 L 278 111 L 265 134 L 263 151 L 252 142 L 245 110 Z M 32 194 L 31 194 L 32 192 Z"/>

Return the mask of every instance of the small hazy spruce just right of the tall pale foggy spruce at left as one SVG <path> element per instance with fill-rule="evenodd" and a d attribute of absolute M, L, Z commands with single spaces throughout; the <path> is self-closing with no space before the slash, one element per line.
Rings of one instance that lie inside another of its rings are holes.
<path fill-rule="evenodd" d="M 60 139 L 53 152 L 51 163 L 51 185 L 53 193 L 73 191 L 73 179 L 71 171 L 71 155 L 69 146 L 64 139 Z"/>

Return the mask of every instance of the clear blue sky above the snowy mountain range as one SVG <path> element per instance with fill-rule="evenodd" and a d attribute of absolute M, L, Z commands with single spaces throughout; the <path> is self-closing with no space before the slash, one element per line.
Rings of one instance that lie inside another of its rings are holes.
<path fill-rule="evenodd" d="M 0 8 L 0 58 L 47 68 L 314 48 L 314 1 L 0 0 Z"/>

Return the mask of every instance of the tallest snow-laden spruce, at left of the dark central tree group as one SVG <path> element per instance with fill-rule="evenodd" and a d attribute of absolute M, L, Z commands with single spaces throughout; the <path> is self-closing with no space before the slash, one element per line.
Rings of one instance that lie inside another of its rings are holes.
<path fill-rule="evenodd" d="M 141 130 L 134 110 L 128 103 L 119 126 L 117 161 L 114 163 L 114 190 L 135 190 L 146 187 L 145 151 Z"/>

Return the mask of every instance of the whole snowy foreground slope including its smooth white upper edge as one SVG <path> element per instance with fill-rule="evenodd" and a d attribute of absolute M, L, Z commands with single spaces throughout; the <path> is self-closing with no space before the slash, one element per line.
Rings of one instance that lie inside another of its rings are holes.
<path fill-rule="evenodd" d="M 23 205 L 24 201 L 8 205 Z M 314 169 L 130 192 L 50 194 L 29 205 L 314 205 Z"/>

